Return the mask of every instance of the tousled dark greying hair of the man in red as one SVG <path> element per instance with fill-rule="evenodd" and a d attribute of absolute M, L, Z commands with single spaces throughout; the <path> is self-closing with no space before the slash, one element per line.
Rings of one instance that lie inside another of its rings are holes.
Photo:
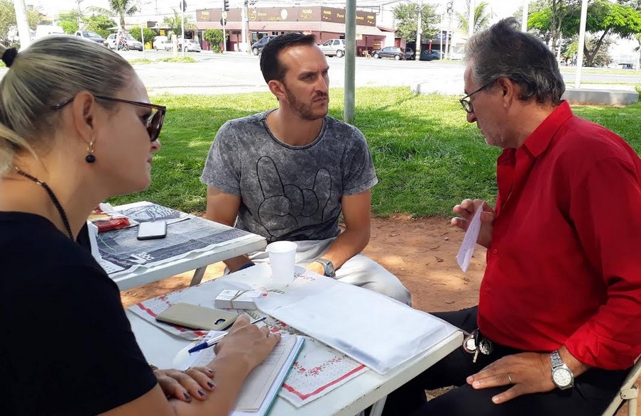
<path fill-rule="evenodd" d="M 515 18 L 504 18 L 473 35 L 465 55 L 473 62 L 474 82 L 485 85 L 509 78 L 520 85 L 522 101 L 536 98 L 539 104 L 560 104 L 565 83 L 554 53 L 541 40 L 519 28 Z"/>

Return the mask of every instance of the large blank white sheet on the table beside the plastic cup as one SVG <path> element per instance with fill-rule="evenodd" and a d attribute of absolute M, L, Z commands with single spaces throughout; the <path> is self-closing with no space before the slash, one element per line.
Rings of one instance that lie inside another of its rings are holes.
<path fill-rule="evenodd" d="M 384 374 L 456 328 L 372 290 L 322 278 L 258 308 Z"/>

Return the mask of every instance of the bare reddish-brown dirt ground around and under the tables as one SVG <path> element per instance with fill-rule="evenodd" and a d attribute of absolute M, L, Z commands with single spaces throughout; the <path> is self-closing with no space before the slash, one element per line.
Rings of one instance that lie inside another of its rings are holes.
<path fill-rule="evenodd" d="M 484 248 L 477 247 L 467 273 L 456 263 L 463 231 L 449 219 L 395 215 L 372 219 L 371 241 L 364 254 L 394 273 L 412 293 L 415 308 L 426 312 L 459 310 L 478 302 L 485 268 Z M 223 263 L 207 268 L 203 281 L 222 275 Z M 189 285 L 192 273 L 121 292 L 125 307 Z M 641 404 L 639 406 L 641 414 Z M 618 412 L 627 415 L 627 408 Z"/>

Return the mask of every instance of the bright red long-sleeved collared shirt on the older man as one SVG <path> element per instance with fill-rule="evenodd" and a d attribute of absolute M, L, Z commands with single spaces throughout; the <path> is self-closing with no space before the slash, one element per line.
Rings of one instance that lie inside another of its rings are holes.
<path fill-rule="evenodd" d="M 641 160 L 564 102 L 497 162 L 478 327 L 499 344 L 627 368 L 641 354 Z"/>

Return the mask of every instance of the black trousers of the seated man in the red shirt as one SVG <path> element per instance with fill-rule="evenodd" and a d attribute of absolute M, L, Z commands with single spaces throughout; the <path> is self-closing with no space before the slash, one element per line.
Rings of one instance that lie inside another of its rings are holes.
<path fill-rule="evenodd" d="M 446 322 L 472 332 L 476 329 L 477 307 L 456 312 L 434 313 Z M 562 319 L 562 317 L 559 317 Z M 600 416 L 618 392 L 628 370 L 605 371 L 592 368 L 574 381 L 574 388 L 549 393 L 522 395 L 508 403 L 495 405 L 492 397 L 509 386 L 475 390 L 466 383 L 471 374 L 503 356 L 522 351 L 495 344 L 491 355 L 473 356 L 462 347 L 446 356 L 412 381 L 388 395 L 383 416 Z M 424 390 L 449 385 L 459 386 L 427 402 Z"/>

